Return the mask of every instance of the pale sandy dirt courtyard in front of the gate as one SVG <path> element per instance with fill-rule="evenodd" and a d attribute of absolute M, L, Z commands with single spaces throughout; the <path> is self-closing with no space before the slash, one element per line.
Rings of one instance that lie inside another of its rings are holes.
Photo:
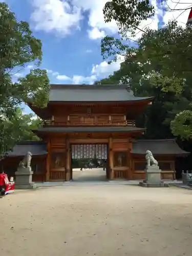
<path fill-rule="evenodd" d="M 192 190 L 74 183 L 0 199 L 2 256 L 191 256 Z"/>

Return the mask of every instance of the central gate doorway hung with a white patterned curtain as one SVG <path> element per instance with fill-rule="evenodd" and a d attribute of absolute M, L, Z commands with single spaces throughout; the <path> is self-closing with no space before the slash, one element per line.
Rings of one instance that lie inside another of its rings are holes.
<path fill-rule="evenodd" d="M 108 144 L 71 144 L 70 178 L 74 181 L 108 180 Z"/>

